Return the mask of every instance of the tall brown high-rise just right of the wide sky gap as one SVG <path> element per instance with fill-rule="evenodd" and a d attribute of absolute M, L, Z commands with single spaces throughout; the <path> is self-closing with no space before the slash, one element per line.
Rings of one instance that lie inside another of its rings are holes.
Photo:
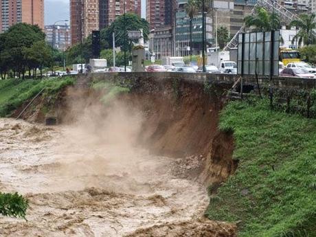
<path fill-rule="evenodd" d="M 99 30 L 99 0 L 70 1 L 71 44 Z"/>

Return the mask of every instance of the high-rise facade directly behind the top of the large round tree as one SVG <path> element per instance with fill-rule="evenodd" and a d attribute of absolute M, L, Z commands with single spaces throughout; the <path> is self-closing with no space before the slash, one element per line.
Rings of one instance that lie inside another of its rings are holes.
<path fill-rule="evenodd" d="M 110 25 L 117 16 L 125 12 L 133 12 L 141 16 L 141 0 L 99 0 L 100 8 L 100 29 Z"/>

